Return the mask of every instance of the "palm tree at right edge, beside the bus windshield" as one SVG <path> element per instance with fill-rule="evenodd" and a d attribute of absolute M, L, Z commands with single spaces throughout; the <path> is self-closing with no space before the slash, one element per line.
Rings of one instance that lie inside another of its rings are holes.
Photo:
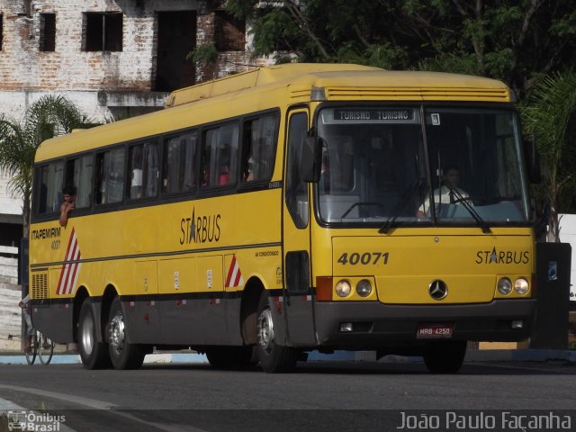
<path fill-rule="evenodd" d="M 555 73 L 541 79 L 522 114 L 543 165 L 541 192 L 549 205 L 547 240 L 556 243 L 560 241 L 559 209 L 571 204 L 576 185 L 576 73 Z"/>

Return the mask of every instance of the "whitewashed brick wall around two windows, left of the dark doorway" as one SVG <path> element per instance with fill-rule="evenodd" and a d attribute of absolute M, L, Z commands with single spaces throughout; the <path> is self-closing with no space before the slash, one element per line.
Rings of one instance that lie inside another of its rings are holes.
<path fill-rule="evenodd" d="M 204 3 L 193 0 L 4 0 L 4 41 L 0 58 L 10 61 L 0 61 L 2 90 L 149 91 L 155 56 L 155 11 L 198 10 Z M 82 49 L 83 14 L 87 12 L 123 14 L 121 51 Z M 54 51 L 39 49 L 42 13 L 56 14 Z"/>

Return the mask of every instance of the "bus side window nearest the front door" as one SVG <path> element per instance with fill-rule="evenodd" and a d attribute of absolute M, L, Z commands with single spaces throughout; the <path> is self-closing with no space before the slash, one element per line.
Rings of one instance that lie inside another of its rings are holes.
<path fill-rule="evenodd" d="M 244 123 L 242 137 L 243 182 L 269 181 L 275 160 L 276 121 L 275 114 L 266 115 Z"/>

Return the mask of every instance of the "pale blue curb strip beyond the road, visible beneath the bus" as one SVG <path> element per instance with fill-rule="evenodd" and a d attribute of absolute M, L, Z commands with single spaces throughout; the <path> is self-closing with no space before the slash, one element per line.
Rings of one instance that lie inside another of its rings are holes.
<path fill-rule="evenodd" d="M 385 356 L 380 359 L 384 363 L 420 362 L 421 357 Z M 545 362 L 561 360 L 576 365 L 576 351 L 556 349 L 473 349 L 468 350 L 465 362 Z M 308 357 L 310 362 L 375 362 L 374 351 L 337 351 L 334 354 L 320 354 L 312 351 Z M 40 365 L 40 360 L 36 360 Z M 75 354 L 55 354 L 50 365 L 80 364 L 80 356 Z M 205 355 L 197 353 L 155 353 L 148 354 L 144 364 L 206 364 Z M 0 355 L 0 365 L 26 365 L 26 357 L 22 355 Z"/>

